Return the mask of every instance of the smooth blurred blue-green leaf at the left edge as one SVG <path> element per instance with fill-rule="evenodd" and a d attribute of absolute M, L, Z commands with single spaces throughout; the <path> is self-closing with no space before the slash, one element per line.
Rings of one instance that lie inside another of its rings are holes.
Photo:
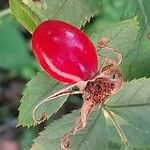
<path fill-rule="evenodd" d="M 0 13 L 0 68 L 17 71 L 31 63 L 25 40 L 7 12 Z"/>

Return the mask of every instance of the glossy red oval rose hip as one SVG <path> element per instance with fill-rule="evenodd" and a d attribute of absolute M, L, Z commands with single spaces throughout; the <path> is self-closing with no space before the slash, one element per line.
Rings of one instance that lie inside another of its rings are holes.
<path fill-rule="evenodd" d="M 95 47 L 78 28 L 58 20 L 40 24 L 32 48 L 45 72 L 63 83 L 91 79 L 98 67 Z"/>

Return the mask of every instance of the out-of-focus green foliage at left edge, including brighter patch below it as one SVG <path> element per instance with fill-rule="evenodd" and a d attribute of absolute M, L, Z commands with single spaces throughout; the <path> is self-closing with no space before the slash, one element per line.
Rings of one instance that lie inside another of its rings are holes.
<path fill-rule="evenodd" d="M 29 51 L 29 42 L 21 34 L 23 30 L 9 10 L 0 12 L 0 69 L 30 79 L 38 67 Z"/>

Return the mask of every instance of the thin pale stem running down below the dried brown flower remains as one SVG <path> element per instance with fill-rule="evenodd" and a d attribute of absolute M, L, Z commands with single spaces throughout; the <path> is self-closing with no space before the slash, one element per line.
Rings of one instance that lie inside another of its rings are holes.
<path fill-rule="evenodd" d="M 106 106 L 104 106 L 103 108 L 105 109 L 105 111 L 107 112 L 107 114 L 111 118 L 112 123 L 114 124 L 115 128 L 117 129 L 118 134 L 120 136 L 120 139 L 125 146 L 125 150 L 129 150 L 129 142 L 128 142 L 123 130 L 121 129 L 120 125 L 117 123 L 116 119 L 114 118 L 112 112 Z"/>

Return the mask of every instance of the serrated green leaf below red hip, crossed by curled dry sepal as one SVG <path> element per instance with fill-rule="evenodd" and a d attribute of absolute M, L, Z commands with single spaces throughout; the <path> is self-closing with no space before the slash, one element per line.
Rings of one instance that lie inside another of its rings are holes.
<path fill-rule="evenodd" d="M 23 93 L 21 99 L 21 105 L 19 107 L 19 123 L 18 125 L 22 126 L 32 126 L 35 125 L 35 122 L 32 119 L 32 111 L 35 106 L 46 96 L 49 96 L 54 91 L 64 87 L 58 82 L 51 79 L 44 73 L 39 73 L 32 78 L 31 81 L 27 84 L 27 87 Z M 67 100 L 68 96 L 62 96 L 57 98 L 53 102 L 47 102 L 43 104 L 37 111 L 36 117 L 38 118 L 42 112 L 46 112 L 47 118 L 52 116 L 53 113 L 57 112 L 59 108 Z"/>

